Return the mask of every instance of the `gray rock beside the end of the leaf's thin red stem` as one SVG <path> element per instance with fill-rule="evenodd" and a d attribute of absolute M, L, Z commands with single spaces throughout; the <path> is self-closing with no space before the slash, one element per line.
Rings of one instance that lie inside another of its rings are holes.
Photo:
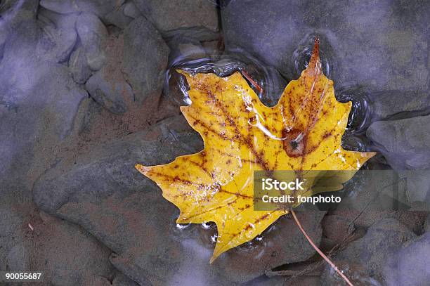
<path fill-rule="evenodd" d="M 334 256 L 333 261 L 353 284 L 367 282 L 365 285 L 386 285 L 384 266 L 387 257 L 415 237 L 396 219 L 382 219 L 371 226 L 363 238 L 351 242 Z M 331 266 L 326 266 L 321 277 L 322 285 L 344 285 L 342 281 Z"/>

